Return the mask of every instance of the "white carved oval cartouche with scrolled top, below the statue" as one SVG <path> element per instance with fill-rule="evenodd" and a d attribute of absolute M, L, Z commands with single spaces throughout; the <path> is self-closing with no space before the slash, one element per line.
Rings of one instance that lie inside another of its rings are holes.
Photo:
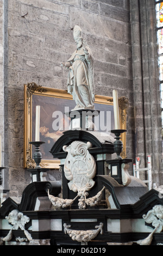
<path fill-rule="evenodd" d="M 68 187 L 78 196 L 84 197 L 85 192 L 91 190 L 95 185 L 93 178 L 96 175 L 96 162 L 89 153 L 92 147 L 90 142 L 74 141 L 68 147 L 65 145 L 63 150 L 67 152 L 64 165 L 64 173 L 68 182 Z"/>

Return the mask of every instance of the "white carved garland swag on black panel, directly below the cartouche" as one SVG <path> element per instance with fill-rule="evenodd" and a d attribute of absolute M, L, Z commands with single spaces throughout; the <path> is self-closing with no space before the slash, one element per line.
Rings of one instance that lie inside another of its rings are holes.
<path fill-rule="evenodd" d="M 103 223 L 101 222 L 99 225 L 96 225 L 96 229 L 90 229 L 90 230 L 73 230 L 70 229 L 71 225 L 67 225 L 64 223 L 64 231 L 65 234 L 68 234 L 72 240 L 78 241 L 78 242 L 89 242 L 92 239 L 94 239 L 98 233 L 100 232 L 103 234 Z"/>

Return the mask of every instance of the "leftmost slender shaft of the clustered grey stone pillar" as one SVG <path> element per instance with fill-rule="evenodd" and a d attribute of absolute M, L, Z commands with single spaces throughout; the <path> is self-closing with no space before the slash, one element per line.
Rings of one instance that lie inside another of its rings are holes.
<path fill-rule="evenodd" d="M 133 87 L 135 115 L 135 155 L 139 155 L 142 164 L 145 161 L 145 135 L 142 89 L 142 52 L 140 34 L 139 0 L 130 1 L 131 42 L 133 58 Z"/>

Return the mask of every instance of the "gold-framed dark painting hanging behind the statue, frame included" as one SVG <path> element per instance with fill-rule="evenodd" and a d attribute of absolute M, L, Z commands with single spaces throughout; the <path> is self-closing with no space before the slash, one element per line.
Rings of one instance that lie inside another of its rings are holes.
<path fill-rule="evenodd" d="M 120 100 L 123 102 L 121 103 Z M 120 113 L 120 129 L 126 129 L 127 99 L 118 99 Z M 125 106 L 124 106 L 125 105 Z M 35 168 L 33 159 L 34 146 L 29 142 L 36 140 L 36 109 L 39 106 L 39 140 L 45 142 L 41 145 L 41 167 L 58 169 L 60 160 L 53 159 L 49 151 L 57 139 L 68 130 L 70 119 L 65 118 L 65 112 L 71 111 L 76 104 L 72 95 L 66 90 L 38 86 L 36 83 L 24 84 L 24 168 Z M 120 107 L 121 106 L 121 107 Z M 109 132 L 114 129 L 114 109 L 112 97 L 96 95 L 95 109 L 103 113 L 103 125 L 98 129 Z M 107 119 L 109 113 L 109 119 Z M 107 129 L 106 129 L 107 127 Z M 122 157 L 126 157 L 126 133 L 122 134 Z"/>

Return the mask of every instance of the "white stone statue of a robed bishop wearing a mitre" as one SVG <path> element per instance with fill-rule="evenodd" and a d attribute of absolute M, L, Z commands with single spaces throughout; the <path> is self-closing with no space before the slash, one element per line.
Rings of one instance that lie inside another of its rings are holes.
<path fill-rule="evenodd" d="M 77 50 L 67 62 L 61 63 L 61 66 L 70 70 L 67 80 L 68 93 L 72 94 L 73 100 L 76 102 L 74 109 L 95 109 L 93 56 L 85 39 L 82 38 L 82 29 L 79 26 L 74 26 L 73 36 Z"/>

